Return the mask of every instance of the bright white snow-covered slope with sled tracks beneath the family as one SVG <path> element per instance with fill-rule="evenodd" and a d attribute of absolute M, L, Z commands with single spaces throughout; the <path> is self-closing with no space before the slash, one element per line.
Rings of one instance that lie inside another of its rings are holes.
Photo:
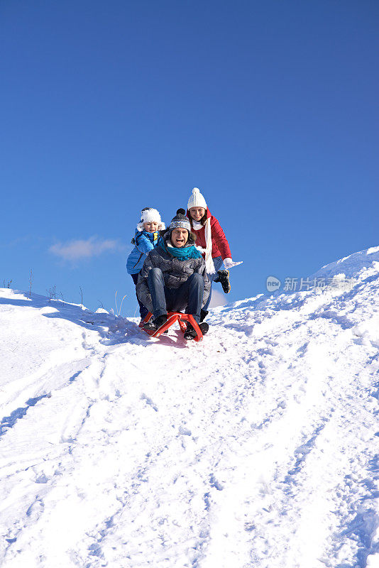
<path fill-rule="evenodd" d="M 201 344 L 0 290 L 0 565 L 378 568 L 377 259 Z"/>

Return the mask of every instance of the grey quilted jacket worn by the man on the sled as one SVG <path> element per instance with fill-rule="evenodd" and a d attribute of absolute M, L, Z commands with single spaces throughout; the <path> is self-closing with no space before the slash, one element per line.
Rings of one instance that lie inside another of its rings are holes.
<path fill-rule="evenodd" d="M 168 231 L 163 236 L 163 239 L 165 239 L 167 244 L 167 241 L 170 239 Z M 191 246 L 193 244 L 194 240 L 192 239 L 192 236 L 190 236 L 186 246 Z M 209 291 L 211 290 L 211 283 L 207 276 L 204 258 L 188 258 L 185 261 L 180 261 L 179 258 L 172 256 L 170 252 L 164 251 L 160 246 L 157 246 L 148 253 L 148 256 L 146 256 L 141 272 L 138 275 L 138 282 L 136 285 L 138 299 L 149 310 L 149 312 L 153 312 L 153 304 L 151 302 L 150 290 L 148 287 L 148 273 L 151 268 L 160 268 L 163 272 L 163 279 L 165 280 L 165 286 L 167 288 L 180 288 L 180 286 L 185 283 L 189 276 L 194 272 L 201 274 L 204 278 L 204 296 L 202 306 L 204 306 L 205 302 L 207 302 Z"/>

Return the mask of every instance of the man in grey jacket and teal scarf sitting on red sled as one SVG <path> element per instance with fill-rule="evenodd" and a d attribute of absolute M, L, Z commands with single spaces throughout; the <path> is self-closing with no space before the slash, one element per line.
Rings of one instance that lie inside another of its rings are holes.
<path fill-rule="evenodd" d="M 210 288 L 204 258 L 194 246 L 189 220 L 185 215 L 177 214 L 158 246 L 148 253 L 138 275 L 138 300 L 153 313 L 153 321 L 143 328 L 158 329 L 167 321 L 167 311 L 185 310 L 199 323 Z M 199 326 L 203 334 L 207 333 L 207 323 L 202 322 Z M 185 339 L 194 337 L 196 332 L 188 323 Z"/>

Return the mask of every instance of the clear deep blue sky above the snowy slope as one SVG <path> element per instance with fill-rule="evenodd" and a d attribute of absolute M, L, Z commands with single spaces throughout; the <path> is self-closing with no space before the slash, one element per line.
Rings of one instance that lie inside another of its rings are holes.
<path fill-rule="evenodd" d="M 141 208 L 194 186 L 230 301 L 377 246 L 378 30 L 376 0 L 1 0 L 0 285 L 132 315 Z"/>

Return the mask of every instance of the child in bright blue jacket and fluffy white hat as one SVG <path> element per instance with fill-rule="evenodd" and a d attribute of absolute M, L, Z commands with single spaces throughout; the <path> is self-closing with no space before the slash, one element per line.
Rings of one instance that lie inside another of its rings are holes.
<path fill-rule="evenodd" d="M 160 219 L 160 214 L 157 209 L 153 207 L 145 207 L 141 211 L 141 221 L 137 225 L 136 234 L 132 239 L 134 245 L 133 251 L 128 256 L 126 261 L 126 270 L 133 278 L 133 283 L 136 285 L 138 280 L 138 273 L 141 271 L 143 263 L 147 254 L 154 249 L 160 239 L 159 232 L 165 229 L 165 224 Z M 137 297 L 138 300 L 138 297 Z M 144 320 L 148 314 L 145 306 L 138 300 L 140 307 L 141 320 Z"/>

